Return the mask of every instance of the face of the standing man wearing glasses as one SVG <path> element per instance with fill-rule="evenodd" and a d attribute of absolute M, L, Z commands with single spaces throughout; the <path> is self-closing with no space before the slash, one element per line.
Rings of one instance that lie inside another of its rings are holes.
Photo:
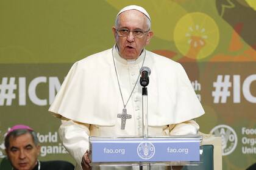
<path fill-rule="evenodd" d="M 119 15 L 119 20 L 116 27 L 112 28 L 112 31 L 115 35 L 116 44 L 119 49 L 120 55 L 124 59 L 134 60 L 140 56 L 141 51 L 144 46 L 149 44 L 153 32 L 149 31 L 144 33 L 142 38 L 136 38 L 133 36 L 132 32 L 126 37 L 118 36 L 116 29 L 129 29 L 135 30 L 140 29 L 143 31 L 148 31 L 148 25 L 146 16 L 138 10 L 127 10 Z"/>

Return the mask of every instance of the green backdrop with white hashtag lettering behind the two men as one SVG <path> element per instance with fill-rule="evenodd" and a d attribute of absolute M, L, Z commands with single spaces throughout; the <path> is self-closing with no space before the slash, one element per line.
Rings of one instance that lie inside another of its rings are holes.
<path fill-rule="evenodd" d="M 206 112 L 201 131 L 222 137 L 223 169 L 256 162 L 253 0 L 0 0 L 0 159 L 5 132 L 23 123 L 38 132 L 41 160 L 74 162 L 49 104 L 71 64 L 113 46 L 116 13 L 130 4 L 151 15 L 147 49 L 185 67 Z"/>

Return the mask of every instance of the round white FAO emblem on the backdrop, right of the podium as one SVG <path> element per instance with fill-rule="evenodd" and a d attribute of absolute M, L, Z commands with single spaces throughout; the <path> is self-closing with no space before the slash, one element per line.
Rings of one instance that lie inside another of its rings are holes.
<path fill-rule="evenodd" d="M 221 137 L 222 155 L 229 155 L 235 150 L 237 135 L 232 127 L 226 124 L 219 124 L 215 126 L 210 133 Z"/>

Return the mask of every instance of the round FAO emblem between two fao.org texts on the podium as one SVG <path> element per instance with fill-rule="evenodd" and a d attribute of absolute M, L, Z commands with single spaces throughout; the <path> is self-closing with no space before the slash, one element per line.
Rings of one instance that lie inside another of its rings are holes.
<path fill-rule="evenodd" d="M 149 160 L 155 154 L 155 146 L 150 142 L 140 143 L 137 147 L 137 154 L 144 160 Z"/>

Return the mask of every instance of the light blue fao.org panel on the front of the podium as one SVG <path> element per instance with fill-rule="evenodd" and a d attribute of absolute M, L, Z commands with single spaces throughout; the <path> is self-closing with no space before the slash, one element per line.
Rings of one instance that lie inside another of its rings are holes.
<path fill-rule="evenodd" d="M 201 136 L 89 137 L 93 166 L 183 166 L 202 163 Z"/>

